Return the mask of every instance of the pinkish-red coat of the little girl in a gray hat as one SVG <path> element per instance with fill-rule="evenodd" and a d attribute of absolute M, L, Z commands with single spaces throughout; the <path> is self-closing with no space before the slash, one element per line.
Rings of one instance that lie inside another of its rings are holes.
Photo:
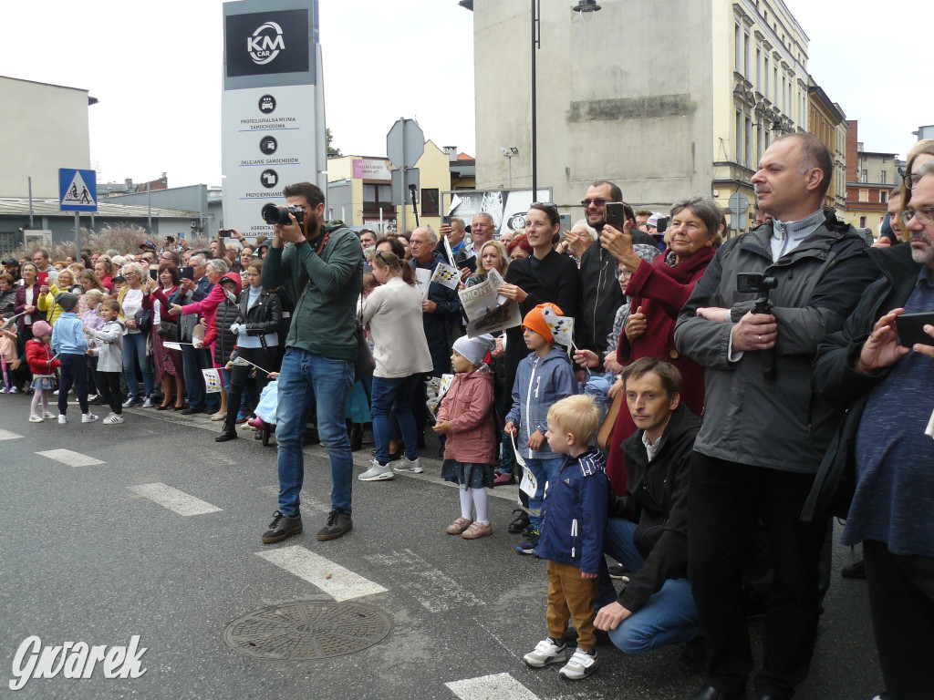
<path fill-rule="evenodd" d="M 445 459 L 493 464 L 496 434 L 493 425 L 493 373 L 484 365 L 454 375 L 438 408 L 438 420 L 448 421 Z"/>

